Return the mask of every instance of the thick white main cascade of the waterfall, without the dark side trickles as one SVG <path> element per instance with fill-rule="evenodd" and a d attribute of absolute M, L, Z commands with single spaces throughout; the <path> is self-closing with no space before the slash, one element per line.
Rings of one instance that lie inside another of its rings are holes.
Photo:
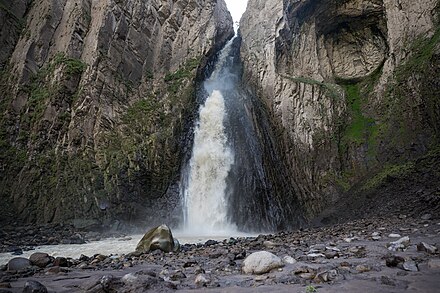
<path fill-rule="evenodd" d="M 211 77 L 204 86 L 208 98 L 200 109 L 195 130 L 194 146 L 189 164 L 187 185 L 183 190 L 184 230 L 197 235 L 230 234 L 235 225 L 227 220 L 226 178 L 234 163 L 228 147 L 224 119 L 227 72 L 223 64 L 229 57 L 232 40 L 225 46 Z"/>

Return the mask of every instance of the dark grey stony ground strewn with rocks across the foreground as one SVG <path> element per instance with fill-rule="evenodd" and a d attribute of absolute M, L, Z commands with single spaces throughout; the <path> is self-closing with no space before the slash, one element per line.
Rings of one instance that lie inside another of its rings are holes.
<path fill-rule="evenodd" d="M 0 292 L 437 292 L 439 246 L 440 219 L 428 214 L 210 240 L 177 253 L 47 251 L 3 266 Z"/>

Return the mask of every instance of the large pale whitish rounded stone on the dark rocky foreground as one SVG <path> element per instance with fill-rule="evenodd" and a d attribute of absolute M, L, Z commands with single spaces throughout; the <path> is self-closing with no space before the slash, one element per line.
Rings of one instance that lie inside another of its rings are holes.
<path fill-rule="evenodd" d="M 254 252 L 243 261 L 243 272 L 246 274 L 264 274 L 283 267 L 281 259 L 267 251 Z"/>

